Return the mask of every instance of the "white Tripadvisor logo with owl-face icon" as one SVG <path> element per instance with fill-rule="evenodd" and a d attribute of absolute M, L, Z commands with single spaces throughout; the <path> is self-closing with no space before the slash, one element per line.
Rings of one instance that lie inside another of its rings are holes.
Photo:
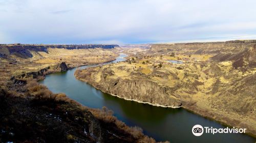
<path fill-rule="evenodd" d="M 212 128 L 202 127 L 201 125 L 195 125 L 192 128 L 192 133 L 195 136 L 201 136 L 203 133 L 216 134 L 216 133 L 245 133 L 246 128 Z"/>

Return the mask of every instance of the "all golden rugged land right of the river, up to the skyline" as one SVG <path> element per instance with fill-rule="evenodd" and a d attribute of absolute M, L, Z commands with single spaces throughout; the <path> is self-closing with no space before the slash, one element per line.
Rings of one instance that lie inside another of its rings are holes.
<path fill-rule="evenodd" d="M 255 136 L 255 67 L 255 40 L 170 43 L 130 53 L 125 62 L 77 69 L 75 76 L 113 96 L 182 107 Z"/>

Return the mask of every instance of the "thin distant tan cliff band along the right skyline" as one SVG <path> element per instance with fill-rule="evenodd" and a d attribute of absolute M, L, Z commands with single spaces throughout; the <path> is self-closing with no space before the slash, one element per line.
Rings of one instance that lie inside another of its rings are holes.
<path fill-rule="evenodd" d="M 246 48 L 256 45 L 256 40 L 235 40 L 226 42 L 195 42 L 195 43 L 173 43 L 153 44 L 148 53 L 170 54 L 180 52 L 181 54 L 220 54 L 238 53 Z"/>

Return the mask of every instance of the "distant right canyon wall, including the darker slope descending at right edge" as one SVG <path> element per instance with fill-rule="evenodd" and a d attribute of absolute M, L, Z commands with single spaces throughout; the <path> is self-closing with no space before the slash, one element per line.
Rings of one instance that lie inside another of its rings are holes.
<path fill-rule="evenodd" d="M 256 40 L 234 40 L 226 42 L 196 42 L 153 44 L 148 54 L 213 55 L 217 62 L 233 61 L 233 67 L 256 67 Z"/>

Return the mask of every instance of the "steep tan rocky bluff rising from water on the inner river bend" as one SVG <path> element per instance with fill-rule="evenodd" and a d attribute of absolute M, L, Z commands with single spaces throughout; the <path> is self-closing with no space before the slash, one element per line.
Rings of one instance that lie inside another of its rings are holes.
<path fill-rule="evenodd" d="M 110 68 L 76 70 L 75 72 L 76 78 L 126 100 L 135 100 L 163 107 L 177 108 L 181 106 L 180 96 L 174 94 L 176 88 L 142 78 L 110 78 L 112 76 L 115 76 L 115 73 Z M 98 79 L 98 77 L 100 77 L 99 81 L 93 80 Z"/>

